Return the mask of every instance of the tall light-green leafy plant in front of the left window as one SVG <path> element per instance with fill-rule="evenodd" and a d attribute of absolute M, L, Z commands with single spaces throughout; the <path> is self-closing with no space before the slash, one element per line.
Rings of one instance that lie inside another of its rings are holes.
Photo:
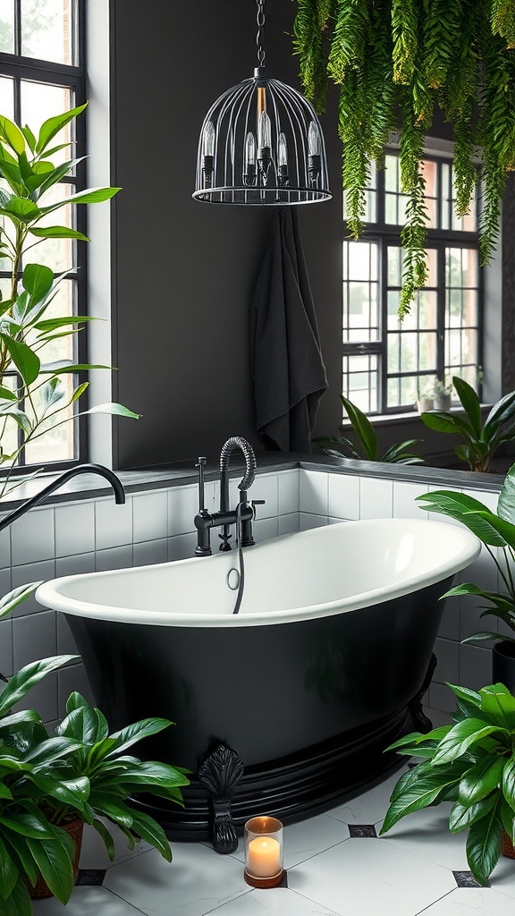
<path fill-rule="evenodd" d="M 84 108 L 50 117 L 38 131 L 18 127 L 0 114 L 0 270 L 8 277 L 6 296 L 0 292 L 0 471 L 5 472 L 0 474 L 0 498 L 17 485 L 11 475 L 23 449 L 49 430 L 84 414 L 138 416 L 115 403 L 77 409 L 89 383 L 73 387 L 73 376 L 109 366 L 51 361 L 52 344 L 92 319 L 59 314 L 56 297 L 68 272 L 56 276 L 32 257 L 32 249 L 46 240 L 89 241 L 70 224 L 55 224 L 53 214 L 71 204 L 108 201 L 120 190 L 93 188 L 56 198 L 59 182 L 80 162 L 56 163 L 61 150 L 71 146 L 71 140 L 56 137 Z"/>

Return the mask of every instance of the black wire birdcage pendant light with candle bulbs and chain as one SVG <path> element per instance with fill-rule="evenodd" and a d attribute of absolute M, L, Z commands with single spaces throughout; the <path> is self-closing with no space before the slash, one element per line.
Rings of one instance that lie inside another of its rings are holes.
<path fill-rule="evenodd" d="M 312 104 L 267 76 L 264 0 L 257 0 L 254 76 L 206 114 L 193 197 L 208 203 L 317 203 L 331 197 L 322 127 Z"/>

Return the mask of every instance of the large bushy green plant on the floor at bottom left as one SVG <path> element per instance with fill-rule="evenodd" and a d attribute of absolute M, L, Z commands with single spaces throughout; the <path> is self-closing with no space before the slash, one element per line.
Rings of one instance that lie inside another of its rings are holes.
<path fill-rule="evenodd" d="M 115 854 L 105 821 L 141 837 L 171 860 L 162 827 L 130 799 L 150 792 L 179 804 L 185 770 L 126 755 L 137 741 L 171 725 L 144 719 L 113 734 L 104 715 L 72 693 L 66 717 L 49 735 L 33 710 L 12 714 L 32 686 L 76 656 L 56 656 L 26 665 L 0 693 L 0 911 L 27 916 L 30 898 L 70 899 L 80 854 L 82 824 L 103 837 Z M 102 819 L 102 820 L 101 820 Z"/>

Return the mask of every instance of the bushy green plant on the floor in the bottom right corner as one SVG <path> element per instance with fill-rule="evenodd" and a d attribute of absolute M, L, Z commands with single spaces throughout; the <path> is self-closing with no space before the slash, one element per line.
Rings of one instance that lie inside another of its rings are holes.
<path fill-rule="evenodd" d="M 414 732 L 388 748 L 422 762 L 397 782 L 380 833 L 411 812 L 452 802 L 449 829 L 468 831 L 466 859 L 486 885 L 501 852 L 515 857 L 515 697 L 502 683 L 479 692 L 448 686 L 454 725 Z"/>

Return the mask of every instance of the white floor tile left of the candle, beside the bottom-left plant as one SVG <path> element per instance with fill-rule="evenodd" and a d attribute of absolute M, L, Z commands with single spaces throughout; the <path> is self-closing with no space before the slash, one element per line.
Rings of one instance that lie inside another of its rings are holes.
<path fill-rule="evenodd" d="M 173 861 L 156 850 L 111 868 L 104 888 L 148 916 L 204 916 L 240 894 L 248 885 L 241 862 L 202 844 L 172 844 Z"/>

